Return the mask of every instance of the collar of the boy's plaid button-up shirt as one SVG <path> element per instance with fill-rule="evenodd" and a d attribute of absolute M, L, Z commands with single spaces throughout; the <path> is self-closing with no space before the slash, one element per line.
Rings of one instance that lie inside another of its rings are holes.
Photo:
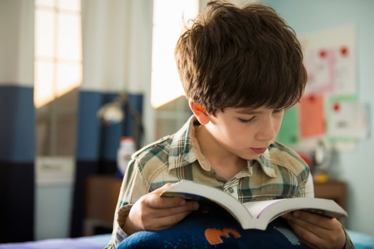
<path fill-rule="evenodd" d="M 177 131 L 170 144 L 169 154 L 169 171 L 186 166 L 198 160 L 200 166 L 205 171 L 210 171 L 210 164 L 205 156 L 200 151 L 199 142 L 195 136 L 196 128 L 199 122 L 194 115 L 192 115 L 186 124 Z M 252 167 L 259 164 L 261 169 L 270 177 L 275 177 L 275 171 L 271 164 L 269 149 L 261 154 L 257 159 L 248 161 L 248 170 L 246 174 L 252 175 Z M 239 172 L 240 174 L 240 172 Z"/>

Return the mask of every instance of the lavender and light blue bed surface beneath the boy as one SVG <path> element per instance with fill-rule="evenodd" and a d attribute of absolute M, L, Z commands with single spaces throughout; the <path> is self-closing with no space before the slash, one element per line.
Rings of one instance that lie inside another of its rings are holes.
<path fill-rule="evenodd" d="M 374 236 L 348 230 L 357 249 L 374 249 Z M 111 234 L 0 244 L 0 249 L 102 249 Z"/>

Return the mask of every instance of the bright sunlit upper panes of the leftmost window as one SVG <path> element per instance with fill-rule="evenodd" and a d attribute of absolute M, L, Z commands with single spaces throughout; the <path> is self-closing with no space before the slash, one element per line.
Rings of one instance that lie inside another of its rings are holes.
<path fill-rule="evenodd" d="M 34 105 L 82 83 L 80 0 L 35 0 Z"/>

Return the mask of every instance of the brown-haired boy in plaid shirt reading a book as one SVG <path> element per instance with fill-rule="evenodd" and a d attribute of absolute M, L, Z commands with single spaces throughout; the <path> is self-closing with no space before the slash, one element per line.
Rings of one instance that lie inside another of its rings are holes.
<path fill-rule="evenodd" d="M 274 141 L 284 109 L 306 84 L 302 49 L 284 20 L 260 3 L 209 2 L 179 38 L 175 59 L 193 116 L 133 155 L 107 248 L 197 210 L 198 202 L 159 197 L 182 179 L 220 187 L 241 202 L 313 197 L 304 161 Z M 336 219 L 302 211 L 284 218 L 308 247 L 353 248 Z"/>

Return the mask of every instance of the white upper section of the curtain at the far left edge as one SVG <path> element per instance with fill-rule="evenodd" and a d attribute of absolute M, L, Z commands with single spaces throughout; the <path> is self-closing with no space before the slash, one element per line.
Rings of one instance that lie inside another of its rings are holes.
<path fill-rule="evenodd" d="M 34 1 L 1 1 L 0 85 L 34 85 Z"/>

